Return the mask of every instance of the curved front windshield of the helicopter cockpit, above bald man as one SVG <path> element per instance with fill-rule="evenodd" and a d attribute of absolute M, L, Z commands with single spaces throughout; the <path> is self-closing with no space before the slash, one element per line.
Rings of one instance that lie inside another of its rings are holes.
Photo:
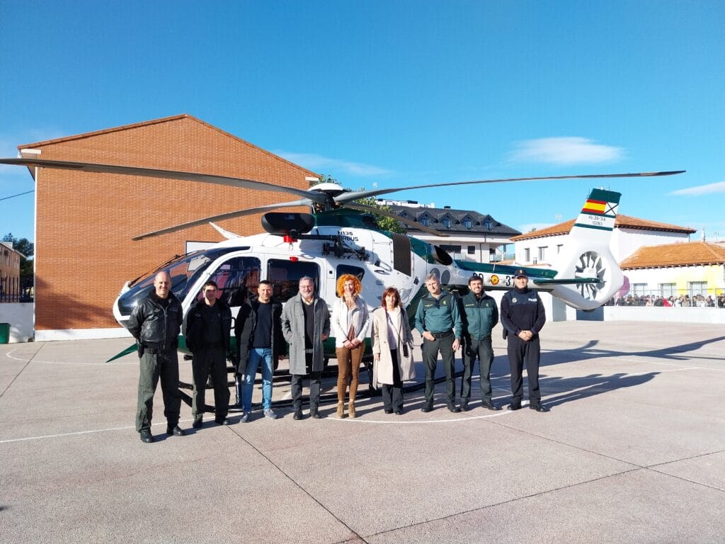
<path fill-rule="evenodd" d="M 195 251 L 165 263 L 150 273 L 149 276 L 132 284 L 127 292 L 118 297 L 118 310 L 120 310 L 121 316 L 130 316 L 131 311 L 138 302 L 151 292 L 154 288 L 154 277 L 156 277 L 157 273 L 162 271 L 169 273 L 169 276 L 171 276 L 171 291 L 179 300 L 183 301 L 189 287 L 194 284 L 210 263 L 225 253 L 238 250 L 238 247 L 223 247 Z"/>

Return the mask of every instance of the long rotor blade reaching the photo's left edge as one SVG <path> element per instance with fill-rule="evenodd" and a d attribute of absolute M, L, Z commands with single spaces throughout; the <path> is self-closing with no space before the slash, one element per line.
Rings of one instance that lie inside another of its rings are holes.
<path fill-rule="evenodd" d="M 157 168 L 139 168 L 137 166 L 100 165 L 93 162 L 70 162 L 67 160 L 49 159 L 0 159 L 3 165 L 37 166 L 39 168 L 58 168 L 59 170 L 79 170 L 81 172 L 97 172 L 107 174 L 125 174 L 126 176 L 144 176 L 146 178 L 178 179 L 183 181 L 201 181 L 205 184 L 217 184 L 244 189 L 257 189 L 258 191 L 274 191 L 278 193 L 294 194 L 323 204 L 328 202 L 326 194 L 295 189 L 284 185 L 268 184 L 264 181 L 252 179 L 231 178 L 228 176 L 215 176 L 212 174 L 199 174 L 194 172 L 178 172 L 176 170 L 158 170 Z"/>

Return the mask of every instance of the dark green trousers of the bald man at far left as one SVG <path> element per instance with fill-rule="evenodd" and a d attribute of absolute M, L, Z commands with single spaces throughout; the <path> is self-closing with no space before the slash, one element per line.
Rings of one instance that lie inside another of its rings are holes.
<path fill-rule="evenodd" d="M 179 362 L 176 350 L 163 353 L 149 353 L 148 350 L 139 360 L 141 371 L 138 374 L 138 403 L 136 406 L 136 430 L 151 429 L 154 415 L 154 392 L 161 380 L 161 392 L 164 395 L 164 416 L 168 426 L 177 426 L 181 413 L 181 394 L 179 392 Z"/>

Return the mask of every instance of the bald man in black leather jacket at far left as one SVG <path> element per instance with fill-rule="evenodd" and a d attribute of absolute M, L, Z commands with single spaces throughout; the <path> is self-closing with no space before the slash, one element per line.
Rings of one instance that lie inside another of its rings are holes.
<path fill-rule="evenodd" d="M 151 418 L 159 378 L 164 395 L 166 433 L 175 437 L 186 434 L 178 426 L 181 395 L 176 347 L 182 321 L 181 302 L 171 292 L 171 277 L 167 272 L 159 272 L 154 278 L 154 290 L 133 308 L 128 319 L 128 331 L 136 338 L 138 357 L 141 358 L 136 411 L 136 430 L 141 435 L 141 442 L 154 442 Z"/>

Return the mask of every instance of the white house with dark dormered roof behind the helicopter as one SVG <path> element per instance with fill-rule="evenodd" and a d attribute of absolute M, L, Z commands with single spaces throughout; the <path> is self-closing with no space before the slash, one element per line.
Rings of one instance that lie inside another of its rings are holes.
<path fill-rule="evenodd" d="M 498 262 L 505 258 L 506 245 L 511 243 L 512 236 L 521 234 L 515 228 L 496 221 L 491 215 L 474 210 L 452 210 L 450 206 L 439 208 L 415 201 L 385 199 L 378 199 L 378 204 L 389 206 L 393 213 L 402 218 L 447 234 L 433 236 L 404 225 L 410 236 L 440 247 L 457 260 Z"/>

